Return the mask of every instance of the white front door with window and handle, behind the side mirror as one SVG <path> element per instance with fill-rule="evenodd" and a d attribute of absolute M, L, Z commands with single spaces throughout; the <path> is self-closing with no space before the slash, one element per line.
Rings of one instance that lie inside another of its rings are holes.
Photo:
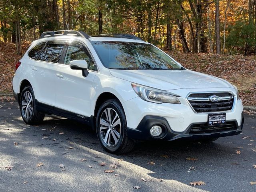
<path fill-rule="evenodd" d="M 86 60 L 89 64 L 88 76 L 82 76 L 81 70 L 72 70 L 69 66 L 72 60 Z M 81 42 L 69 43 L 63 54 L 64 64 L 59 64 L 56 70 L 56 107 L 73 113 L 81 118 L 90 117 L 90 99 L 92 84 L 96 75 L 96 65 L 88 49 Z"/>

